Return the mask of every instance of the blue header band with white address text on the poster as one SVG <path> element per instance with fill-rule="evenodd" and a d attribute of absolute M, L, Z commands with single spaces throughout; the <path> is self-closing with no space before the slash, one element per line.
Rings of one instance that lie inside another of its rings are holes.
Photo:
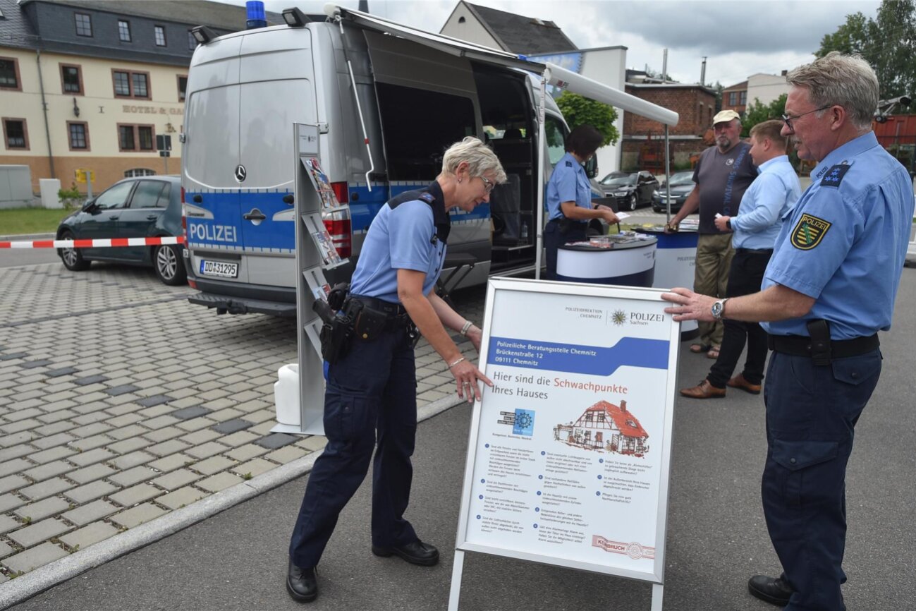
<path fill-rule="evenodd" d="M 486 362 L 488 365 L 610 376 L 622 366 L 667 369 L 669 349 L 670 343 L 666 340 L 639 337 L 623 337 L 609 348 L 491 337 Z"/>

